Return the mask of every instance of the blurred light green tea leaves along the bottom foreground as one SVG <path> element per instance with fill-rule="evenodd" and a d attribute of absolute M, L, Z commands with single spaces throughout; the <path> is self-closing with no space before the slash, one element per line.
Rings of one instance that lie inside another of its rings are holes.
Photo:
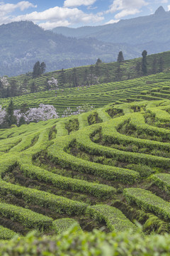
<path fill-rule="evenodd" d="M 75 234 L 77 227 L 52 237 L 38 237 L 30 233 L 26 238 L 15 238 L 0 242 L 1 255 L 101 255 L 101 256 L 157 256 L 170 253 L 169 235 L 149 235 L 145 238 L 140 233 L 93 233 Z M 75 235 L 74 235 L 75 234 Z"/>

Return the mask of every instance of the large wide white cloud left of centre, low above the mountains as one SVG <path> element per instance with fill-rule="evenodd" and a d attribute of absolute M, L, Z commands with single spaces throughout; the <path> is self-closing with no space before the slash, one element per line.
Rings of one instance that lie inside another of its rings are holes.
<path fill-rule="evenodd" d="M 96 23 L 103 21 L 102 14 L 85 14 L 83 11 L 74 8 L 62 8 L 55 6 L 42 12 L 33 11 L 13 18 L 13 21 L 33 21 L 41 22 L 39 25 L 45 29 L 55 28 L 56 26 L 69 26 L 75 23 Z"/>

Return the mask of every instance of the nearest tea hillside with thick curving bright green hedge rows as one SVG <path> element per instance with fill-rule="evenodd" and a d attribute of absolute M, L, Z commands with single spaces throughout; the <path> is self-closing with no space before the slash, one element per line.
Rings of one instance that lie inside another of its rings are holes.
<path fill-rule="evenodd" d="M 0 130 L 0 239 L 169 233 L 170 101 L 110 104 Z"/>

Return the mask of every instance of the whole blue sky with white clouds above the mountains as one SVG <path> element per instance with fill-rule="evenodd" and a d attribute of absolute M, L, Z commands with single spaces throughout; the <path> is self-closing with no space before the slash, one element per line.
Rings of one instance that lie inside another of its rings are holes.
<path fill-rule="evenodd" d="M 170 11 L 170 0 L 30 0 L 0 1 L 0 24 L 33 21 L 42 28 L 98 26 L 120 19 Z"/>

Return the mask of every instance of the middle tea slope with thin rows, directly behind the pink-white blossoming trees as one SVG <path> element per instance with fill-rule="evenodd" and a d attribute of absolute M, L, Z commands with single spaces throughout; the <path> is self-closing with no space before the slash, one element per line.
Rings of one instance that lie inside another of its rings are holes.
<path fill-rule="evenodd" d="M 169 81 L 169 72 L 158 73 L 121 82 L 30 93 L 29 95 L 13 97 L 13 103 L 16 109 L 38 107 L 40 103 L 54 105 L 57 112 L 62 116 L 67 107 L 76 111 L 78 106 L 86 103 L 94 105 L 94 107 L 103 107 L 113 102 L 170 99 Z M 0 98 L 0 105 L 7 107 L 10 100 L 11 98 Z"/>

